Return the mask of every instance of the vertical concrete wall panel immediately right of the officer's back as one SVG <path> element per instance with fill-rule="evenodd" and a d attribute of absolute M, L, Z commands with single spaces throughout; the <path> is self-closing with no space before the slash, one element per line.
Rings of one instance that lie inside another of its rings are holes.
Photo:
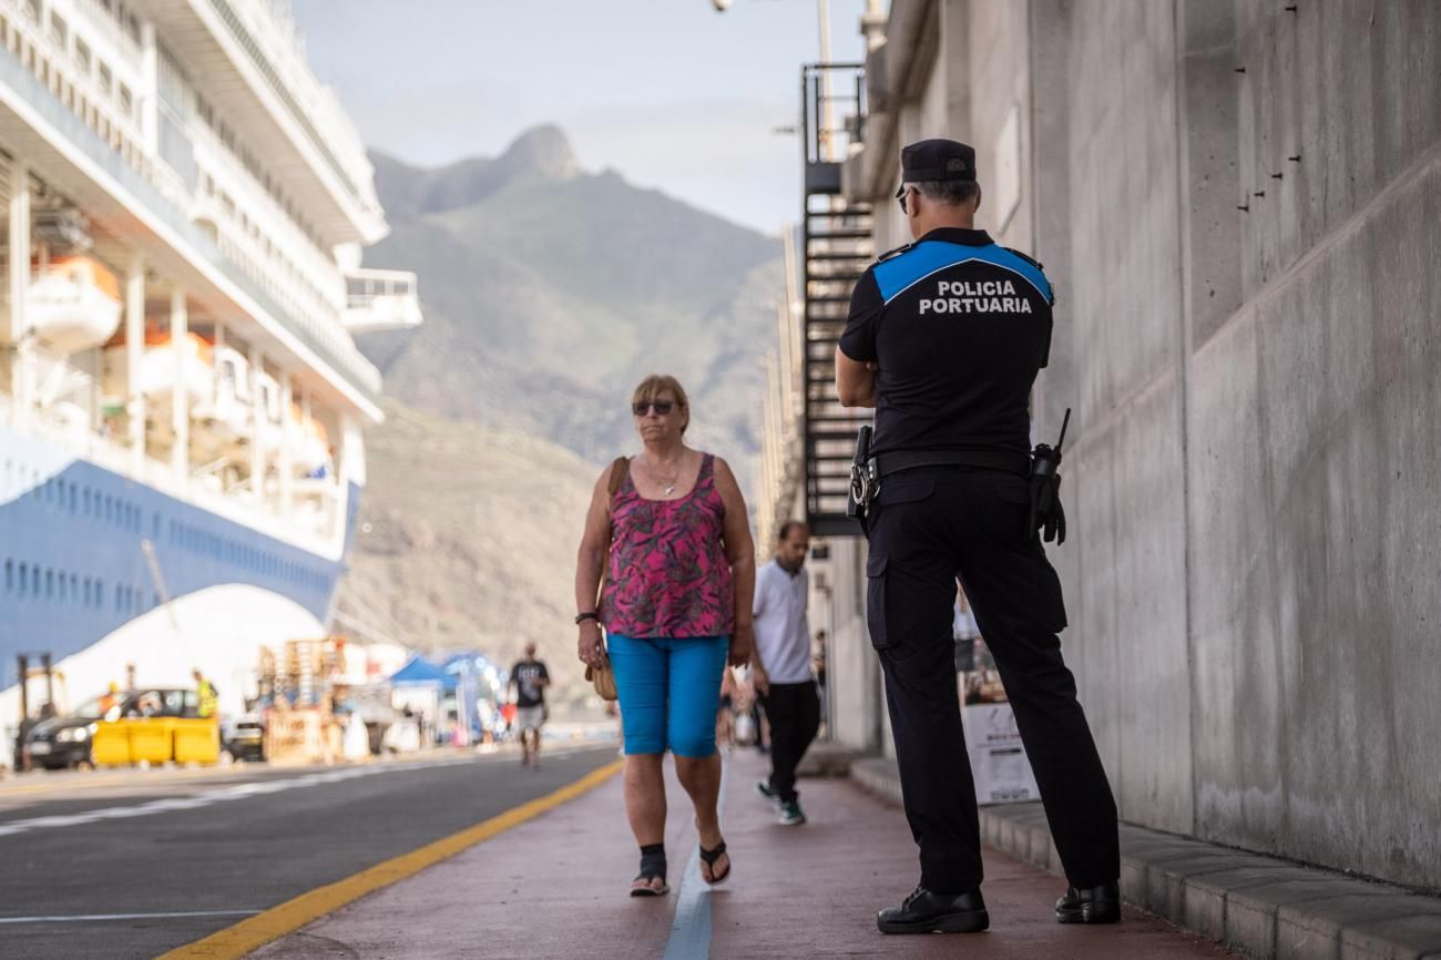
<path fill-rule="evenodd" d="M 1036 431 L 1074 408 L 1062 566 L 1081 685 L 1121 816 L 1193 826 L 1186 639 L 1179 45 L 1154 0 L 1032 4 L 1050 56 L 1035 203 L 1036 257 L 1056 283 Z M 1038 104 L 1038 110 L 1039 110 Z M 1039 127 L 1040 124 L 1038 124 Z M 1052 248 L 1050 239 L 1066 242 Z"/>

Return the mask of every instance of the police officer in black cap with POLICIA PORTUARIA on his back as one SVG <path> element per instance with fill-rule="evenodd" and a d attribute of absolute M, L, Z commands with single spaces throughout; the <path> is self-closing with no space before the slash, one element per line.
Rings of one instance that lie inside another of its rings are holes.
<path fill-rule="evenodd" d="M 846 406 L 875 406 L 867 626 L 886 683 L 921 884 L 883 933 L 973 931 L 976 786 L 961 734 L 951 614 L 960 579 L 996 657 L 1071 886 L 1062 923 L 1120 918 L 1115 800 L 1056 634 L 1061 581 L 1030 522 L 1029 395 L 1050 347 L 1050 283 L 974 228 L 976 151 L 924 140 L 896 193 L 915 242 L 857 281 L 836 352 Z"/>

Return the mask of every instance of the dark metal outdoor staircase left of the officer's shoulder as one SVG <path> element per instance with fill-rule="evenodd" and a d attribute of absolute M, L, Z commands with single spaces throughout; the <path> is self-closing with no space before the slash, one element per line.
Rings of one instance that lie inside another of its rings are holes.
<path fill-rule="evenodd" d="M 846 517 L 846 490 L 856 431 L 872 414 L 844 409 L 837 401 L 836 343 L 846 329 L 850 291 L 875 258 L 870 205 L 850 202 L 840 190 L 839 157 L 859 140 L 865 123 L 863 68 L 803 68 L 801 104 L 806 515 L 818 536 L 857 536 L 860 529 Z M 839 123 L 837 105 L 843 112 Z"/>

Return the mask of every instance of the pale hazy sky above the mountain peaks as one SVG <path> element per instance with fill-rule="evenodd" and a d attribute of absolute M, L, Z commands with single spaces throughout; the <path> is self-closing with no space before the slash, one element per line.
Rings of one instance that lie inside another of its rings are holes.
<path fill-rule="evenodd" d="M 366 143 L 421 166 L 556 123 L 586 170 L 764 229 L 797 218 L 800 66 L 814 0 L 293 0 L 311 66 Z M 865 0 L 830 0 L 860 59 Z"/>

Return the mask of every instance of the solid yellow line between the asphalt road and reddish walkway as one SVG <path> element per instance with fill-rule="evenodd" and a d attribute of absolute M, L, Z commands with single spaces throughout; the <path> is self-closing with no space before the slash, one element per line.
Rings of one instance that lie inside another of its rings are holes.
<path fill-rule="evenodd" d="M 523 803 L 476 826 L 451 833 L 447 837 L 427 843 L 416 850 L 402 853 L 383 863 L 376 863 L 334 884 L 317 886 L 249 920 L 242 920 L 233 927 L 226 927 L 219 933 L 210 934 L 205 940 L 196 940 L 192 944 L 161 954 L 156 960 L 193 960 L 197 957 L 206 957 L 208 960 L 236 960 L 238 957 L 244 957 L 272 940 L 300 930 L 313 920 L 318 920 L 346 904 L 360 899 L 366 894 L 419 874 L 427 866 L 434 866 L 481 840 L 488 840 L 497 833 L 504 833 L 546 810 L 579 797 L 582 793 L 605 783 L 620 768 L 621 761 L 608 763 L 585 774 L 575 783 L 561 787 L 555 793 Z"/>

